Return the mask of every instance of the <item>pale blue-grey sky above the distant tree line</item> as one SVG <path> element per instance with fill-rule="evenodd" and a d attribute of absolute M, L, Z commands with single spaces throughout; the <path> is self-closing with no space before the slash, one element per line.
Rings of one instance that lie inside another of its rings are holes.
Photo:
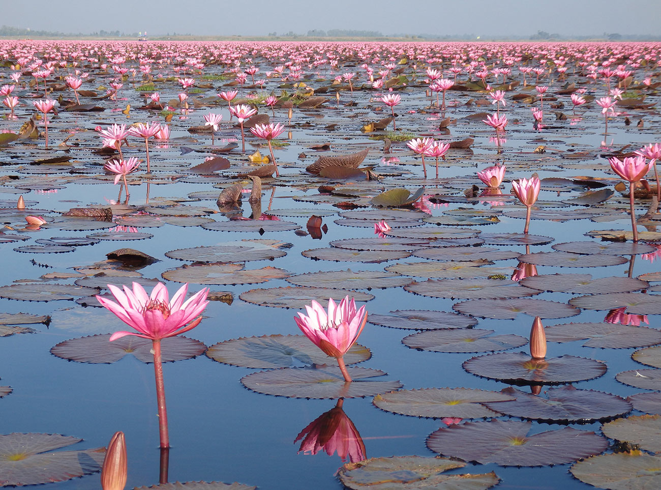
<path fill-rule="evenodd" d="M 561 36 L 661 32 L 661 0 L 1 0 L 0 24 L 58 32 L 265 36 L 290 30 Z"/>

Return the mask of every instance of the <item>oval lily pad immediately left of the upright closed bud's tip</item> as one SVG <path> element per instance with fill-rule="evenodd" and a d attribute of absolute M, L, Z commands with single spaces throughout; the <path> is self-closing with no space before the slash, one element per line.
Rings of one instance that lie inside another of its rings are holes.
<path fill-rule="evenodd" d="M 520 335 L 493 333 L 493 330 L 483 329 L 428 330 L 408 335 L 402 339 L 402 343 L 410 348 L 432 352 L 493 352 L 522 347 L 528 343 L 528 339 Z"/>

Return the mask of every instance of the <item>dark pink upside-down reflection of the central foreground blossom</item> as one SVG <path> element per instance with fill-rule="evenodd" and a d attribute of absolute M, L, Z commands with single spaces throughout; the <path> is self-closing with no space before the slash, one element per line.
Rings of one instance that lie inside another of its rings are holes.
<path fill-rule="evenodd" d="M 302 440 L 299 452 L 317 454 L 323 450 L 329 456 L 337 453 L 346 462 L 354 463 L 366 459 L 365 444 L 354 423 L 342 410 L 344 399 L 329 411 L 321 414 L 301 430 L 294 442 Z"/>

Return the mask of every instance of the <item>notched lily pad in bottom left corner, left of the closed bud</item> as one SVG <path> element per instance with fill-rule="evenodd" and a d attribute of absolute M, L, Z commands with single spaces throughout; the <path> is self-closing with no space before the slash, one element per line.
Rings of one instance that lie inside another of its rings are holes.
<path fill-rule="evenodd" d="M 60 434 L 0 435 L 0 485 L 40 485 L 99 471 L 105 448 L 53 452 L 81 440 Z"/>

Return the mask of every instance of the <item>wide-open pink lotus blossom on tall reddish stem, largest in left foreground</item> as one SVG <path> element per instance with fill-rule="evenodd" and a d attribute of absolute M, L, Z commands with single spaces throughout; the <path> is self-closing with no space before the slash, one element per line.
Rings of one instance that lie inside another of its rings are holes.
<path fill-rule="evenodd" d="M 110 341 L 120 339 L 125 335 L 136 335 L 136 337 L 151 339 L 159 408 L 161 448 L 169 448 L 165 386 L 163 384 L 163 366 L 161 363 L 161 339 L 175 337 L 175 335 L 194 329 L 200 324 L 200 321 L 202 321 L 200 315 L 209 304 L 206 300 L 209 288 L 198 291 L 188 300 L 186 300 L 188 282 L 179 288 L 172 300 L 169 298 L 167 288 L 163 282 L 159 282 L 154 286 L 151 294 L 147 294 L 145 289 L 137 282 L 133 283 L 133 289 L 124 286 L 124 291 L 122 291 L 113 284 L 108 284 L 108 289 L 117 302 L 97 296 L 98 302 L 136 330 L 135 332 L 115 332 L 110 336 Z"/>

